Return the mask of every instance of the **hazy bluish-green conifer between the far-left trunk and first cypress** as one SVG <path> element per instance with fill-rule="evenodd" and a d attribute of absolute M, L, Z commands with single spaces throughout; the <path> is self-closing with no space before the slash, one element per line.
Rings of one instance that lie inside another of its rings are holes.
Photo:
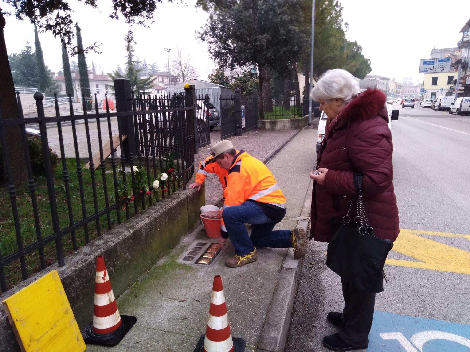
<path fill-rule="evenodd" d="M 8 56 L 11 74 L 16 87 L 39 89 L 38 66 L 36 55 L 28 42 L 19 54 Z"/>

